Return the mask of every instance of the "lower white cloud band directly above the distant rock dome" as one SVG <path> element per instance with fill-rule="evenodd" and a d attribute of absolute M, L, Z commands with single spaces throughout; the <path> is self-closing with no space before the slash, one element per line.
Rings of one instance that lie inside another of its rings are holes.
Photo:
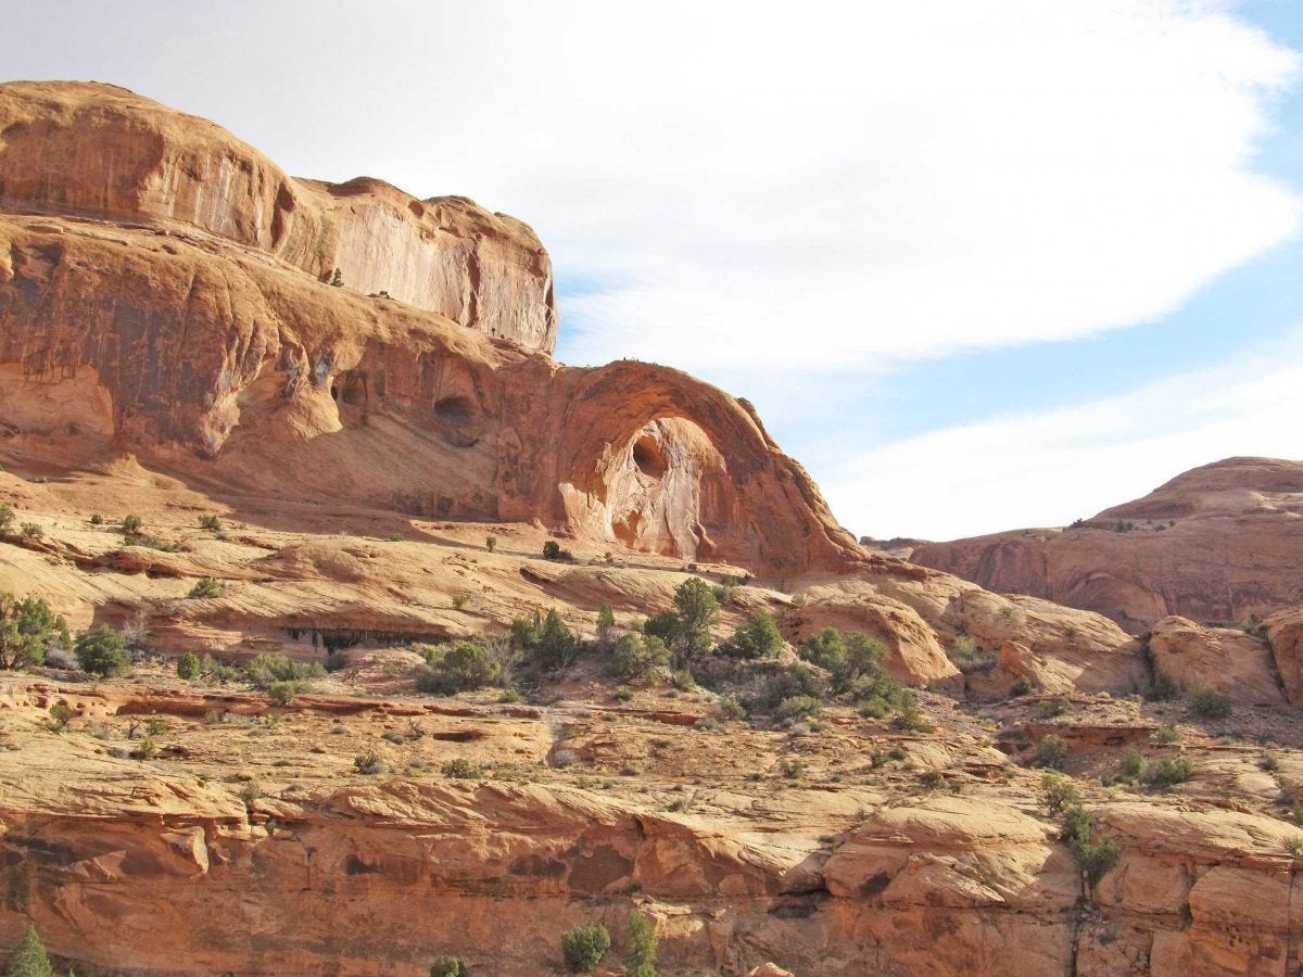
<path fill-rule="evenodd" d="M 933 431 L 822 479 L 852 531 L 952 539 L 1061 526 L 1197 465 L 1299 444 L 1303 332 L 1235 362 L 1118 397 Z"/>

